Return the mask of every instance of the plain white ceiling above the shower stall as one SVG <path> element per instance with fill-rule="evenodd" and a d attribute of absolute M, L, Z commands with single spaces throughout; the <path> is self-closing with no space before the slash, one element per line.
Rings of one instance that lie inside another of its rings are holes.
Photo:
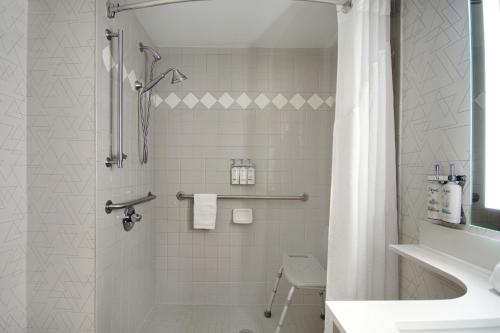
<path fill-rule="evenodd" d="M 337 10 L 326 3 L 206 0 L 134 14 L 157 47 L 329 48 L 337 40 Z"/>

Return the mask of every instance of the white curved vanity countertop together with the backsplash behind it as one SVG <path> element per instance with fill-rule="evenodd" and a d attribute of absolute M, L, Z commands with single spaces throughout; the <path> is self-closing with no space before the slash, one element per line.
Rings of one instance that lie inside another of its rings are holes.
<path fill-rule="evenodd" d="M 465 293 L 445 300 L 328 301 L 327 311 L 331 312 L 341 332 L 444 333 L 456 330 L 496 332 L 500 329 L 500 294 L 489 282 L 491 270 L 488 269 L 493 262 L 500 260 L 500 241 L 460 230 L 444 230 L 429 223 L 423 227 L 422 239 L 427 241 L 419 245 L 391 245 L 391 249 L 459 284 Z M 442 245 L 435 243 L 440 233 L 451 234 L 441 238 Z M 464 243 L 462 238 L 468 238 L 469 242 Z M 469 253 L 455 257 L 446 253 L 451 249 L 452 239 L 460 240 L 457 246 L 478 243 L 476 248 L 463 246 L 461 251 Z M 485 250 L 489 251 L 486 253 Z M 474 264 L 466 259 L 472 259 Z"/>

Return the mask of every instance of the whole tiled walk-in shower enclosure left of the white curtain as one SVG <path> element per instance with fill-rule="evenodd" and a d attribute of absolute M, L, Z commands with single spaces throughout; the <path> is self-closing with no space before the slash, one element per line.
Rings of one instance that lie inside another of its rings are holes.
<path fill-rule="evenodd" d="M 151 3 L 160 2 L 172 1 Z M 336 7 L 113 6 L 97 7 L 96 329 L 274 332 L 286 281 L 273 317 L 264 310 L 283 254 L 326 265 Z M 120 86 L 119 45 L 105 29 L 124 37 L 121 169 L 105 165 L 117 145 Z M 172 82 L 162 80 L 169 71 Z M 231 159 L 255 162 L 255 185 L 230 184 Z M 157 198 L 135 206 L 142 219 L 129 232 L 123 210 L 99 209 L 148 192 Z M 222 196 L 214 231 L 193 230 L 193 193 Z M 302 193 L 307 201 L 270 200 Z M 234 208 L 252 208 L 253 223 L 234 224 Z M 290 311 L 284 332 L 323 331 L 317 291 L 298 291 Z"/>

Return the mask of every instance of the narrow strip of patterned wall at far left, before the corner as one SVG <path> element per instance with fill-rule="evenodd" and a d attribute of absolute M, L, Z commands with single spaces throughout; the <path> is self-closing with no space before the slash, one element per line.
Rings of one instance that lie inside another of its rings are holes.
<path fill-rule="evenodd" d="M 26 332 L 28 1 L 0 3 L 0 331 Z"/>

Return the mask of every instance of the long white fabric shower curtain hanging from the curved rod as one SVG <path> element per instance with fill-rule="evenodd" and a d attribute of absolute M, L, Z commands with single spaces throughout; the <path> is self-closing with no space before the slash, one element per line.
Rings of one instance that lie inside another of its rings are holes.
<path fill-rule="evenodd" d="M 395 299 L 396 159 L 390 0 L 338 12 L 328 300 Z"/>

